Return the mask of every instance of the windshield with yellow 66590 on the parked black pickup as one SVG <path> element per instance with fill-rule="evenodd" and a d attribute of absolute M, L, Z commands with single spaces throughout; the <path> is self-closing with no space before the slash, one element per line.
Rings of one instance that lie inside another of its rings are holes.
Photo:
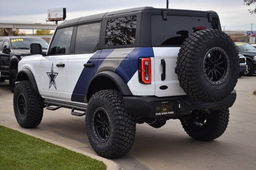
<path fill-rule="evenodd" d="M 36 43 L 42 46 L 42 49 L 48 48 L 48 43 L 43 39 L 32 39 L 32 38 L 16 38 L 11 39 L 13 49 L 30 49 L 30 44 Z"/>

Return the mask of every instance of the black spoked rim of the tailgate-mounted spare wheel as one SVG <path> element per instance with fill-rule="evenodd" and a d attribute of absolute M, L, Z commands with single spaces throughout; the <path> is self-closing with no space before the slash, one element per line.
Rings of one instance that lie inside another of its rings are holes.
<path fill-rule="evenodd" d="M 206 53 L 203 61 L 203 71 L 206 80 L 218 85 L 224 82 L 230 70 L 227 53 L 220 47 L 214 47 Z"/>

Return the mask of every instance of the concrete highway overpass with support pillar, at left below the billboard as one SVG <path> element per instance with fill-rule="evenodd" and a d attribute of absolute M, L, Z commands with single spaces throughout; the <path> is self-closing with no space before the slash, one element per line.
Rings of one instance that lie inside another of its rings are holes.
<path fill-rule="evenodd" d="M 9 36 L 13 36 L 16 29 L 55 29 L 55 24 L 42 23 L 7 23 L 0 22 L 0 28 L 5 28 Z"/>

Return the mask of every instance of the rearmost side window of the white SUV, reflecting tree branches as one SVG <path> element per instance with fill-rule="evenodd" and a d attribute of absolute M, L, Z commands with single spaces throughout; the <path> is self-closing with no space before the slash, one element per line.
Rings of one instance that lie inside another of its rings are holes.
<path fill-rule="evenodd" d="M 136 16 L 110 19 L 107 22 L 105 45 L 132 45 L 135 43 Z"/>

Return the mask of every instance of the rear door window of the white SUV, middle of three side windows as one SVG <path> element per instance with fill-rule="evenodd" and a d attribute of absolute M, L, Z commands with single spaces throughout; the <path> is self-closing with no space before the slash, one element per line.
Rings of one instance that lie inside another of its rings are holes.
<path fill-rule="evenodd" d="M 100 36 L 100 23 L 79 25 L 76 32 L 75 53 L 93 53 Z"/>

